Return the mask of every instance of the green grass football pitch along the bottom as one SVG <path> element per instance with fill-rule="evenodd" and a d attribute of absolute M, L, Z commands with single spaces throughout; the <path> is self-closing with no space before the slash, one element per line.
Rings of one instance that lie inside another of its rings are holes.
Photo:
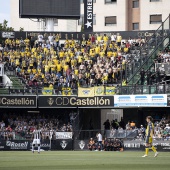
<path fill-rule="evenodd" d="M 169 170 L 170 153 L 142 158 L 143 152 L 0 152 L 0 170 Z"/>

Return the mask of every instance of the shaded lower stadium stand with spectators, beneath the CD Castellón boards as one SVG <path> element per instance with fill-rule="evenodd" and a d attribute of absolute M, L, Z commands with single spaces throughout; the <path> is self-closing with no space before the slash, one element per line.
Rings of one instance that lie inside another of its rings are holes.
<path fill-rule="evenodd" d="M 17 113 L 4 113 L 2 114 L 0 122 L 0 139 L 13 139 L 22 140 L 30 139 L 32 137 L 32 132 L 36 126 L 39 126 L 42 130 L 42 138 L 49 139 L 50 131 L 52 132 L 74 132 L 76 134 L 77 129 L 75 128 L 74 121 L 76 119 L 76 114 L 74 113 L 74 119 L 72 119 L 72 113 L 70 114 L 17 114 Z M 115 127 L 116 120 L 111 122 L 110 129 L 104 132 L 104 136 L 107 139 L 130 139 L 136 141 L 143 141 L 145 137 L 145 128 L 143 125 L 141 127 L 132 126 L 132 123 L 128 122 L 124 128 L 122 128 L 121 122 L 117 122 L 117 127 Z M 155 121 L 155 140 L 170 140 L 170 118 L 163 117 L 160 121 Z M 90 139 L 94 138 L 96 140 L 97 130 L 91 131 L 80 131 L 78 135 L 80 139 Z M 53 133 L 55 134 L 55 133 Z M 55 138 L 55 137 L 54 137 Z"/>

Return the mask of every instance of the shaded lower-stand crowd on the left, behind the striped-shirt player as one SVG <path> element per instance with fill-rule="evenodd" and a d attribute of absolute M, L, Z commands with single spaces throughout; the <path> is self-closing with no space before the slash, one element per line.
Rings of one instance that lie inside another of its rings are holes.
<path fill-rule="evenodd" d="M 35 128 L 42 132 L 42 139 L 49 139 L 50 135 L 55 137 L 54 132 L 73 132 L 73 119 L 75 114 L 15 114 L 4 115 L 0 122 L 0 139 L 32 138 Z"/>

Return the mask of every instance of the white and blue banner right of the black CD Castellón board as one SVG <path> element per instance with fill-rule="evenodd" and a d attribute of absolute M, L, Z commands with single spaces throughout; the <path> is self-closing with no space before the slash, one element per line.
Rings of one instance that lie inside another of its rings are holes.
<path fill-rule="evenodd" d="M 155 95 L 115 95 L 115 107 L 165 107 L 167 106 L 166 94 Z"/>

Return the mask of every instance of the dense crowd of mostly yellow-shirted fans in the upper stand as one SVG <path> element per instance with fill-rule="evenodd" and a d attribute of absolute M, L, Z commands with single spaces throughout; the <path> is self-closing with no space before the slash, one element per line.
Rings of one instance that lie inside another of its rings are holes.
<path fill-rule="evenodd" d="M 120 34 L 98 34 L 82 41 L 66 38 L 62 46 L 59 34 L 28 35 L 6 39 L 0 45 L 0 60 L 15 69 L 29 87 L 74 89 L 125 81 L 131 47 L 144 43 L 144 39 L 123 40 Z"/>

